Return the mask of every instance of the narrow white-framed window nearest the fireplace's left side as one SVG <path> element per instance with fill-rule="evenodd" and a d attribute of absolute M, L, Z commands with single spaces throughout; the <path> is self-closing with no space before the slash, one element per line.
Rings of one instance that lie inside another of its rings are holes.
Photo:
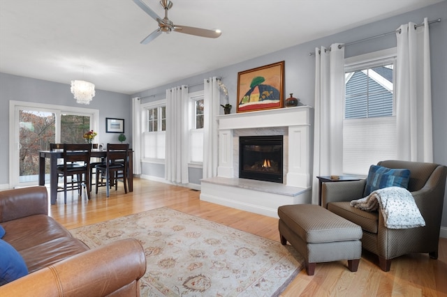
<path fill-rule="evenodd" d="M 189 162 L 203 162 L 203 91 L 189 94 L 192 106 L 191 129 L 189 129 Z"/>

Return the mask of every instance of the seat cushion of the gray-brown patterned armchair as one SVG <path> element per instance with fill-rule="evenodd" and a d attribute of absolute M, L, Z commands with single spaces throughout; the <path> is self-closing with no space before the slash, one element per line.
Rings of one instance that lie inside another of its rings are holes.
<path fill-rule="evenodd" d="M 365 231 L 377 234 L 379 226 L 379 213 L 377 211 L 361 211 L 351 206 L 349 201 L 330 202 L 328 210 L 358 224 Z"/>

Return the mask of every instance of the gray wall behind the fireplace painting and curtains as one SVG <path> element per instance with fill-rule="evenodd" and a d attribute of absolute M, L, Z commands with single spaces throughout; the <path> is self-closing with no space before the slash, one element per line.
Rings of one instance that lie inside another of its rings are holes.
<path fill-rule="evenodd" d="M 237 63 L 235 65 L 220 68 L 209 73 L 203 73 L 194 77 L 189 77 L 179 82 L 159 86 L 155 89 L 143 91 L 135 94 L 135 96 L 143 98 L 142 102 L 150 100 L 159 100 L 164 98 L 166 89 L 181 84 L 196 84 L 202 82 L 204 78 L 212 76 L 222 77 L 222 82 L 228 88 L 230 103 L 233 105 L 235 112 L 236 91 L 237 91 L 237 73 L 242 70 L 256 68 L 258 66 L 275 63 L 278 61 L 286 62 L 285 70 L 285 93 L 293 93 L 294 97 L 300 98 L 306 105 L 314 105 L 314 56 L 309 56 L 309 52 L 314 52 L 315 47 L 324 45 L 329 47 L 331 43 L 350 43 L 352 41 L 380 35 L 397 29 L 401 24 L 408 22 L 423 22 L 424 17 L 428 20 L 437 20 L 441 18 L 442 22 L 430 25 L 430 44 L 432 59 L 432 108 L 433 108 L 433 126 L 434 126 L 434 162 L 447 165 L 447 2 L 428 6 L 410 13 L 391 17 L 380 22 L 374 22 L 356 29 L 337 33 L 332 36 L 313 40 L 309 43 L 295 45 L 279 52 L 274 52 L 261 57 L 256 57 L 249 61 Z M 312 24 L 309 24 L 312 25 Z M 305 30 L 305 28 L 298 28 Z M 368 52 L 375 52 L 389 47 L 396 46 L 396 38 L 394 34 L 389 36 L 376 38 L 364 43 L 349 45 L 345 48 L 345 56 L 357 56 Z M 222 54 L 225 54 L 222 52 Z M 202 87 L 203 88 L 203 87 Z M 191 90 L 192 91 L 192 90 Z M 193 91 L 196 91 L 193 90 Z M 151 96 L 155 95 L 155 96 Z M 340 102 L 342 103 L 342 102 Z M 223 113 L 223 111 L 221 111 Z M 159 168 L 160 169 L 160 168 Z M 144 170 L 144 168 L 143 168 Z M 143 172 L 144 174 L 144 172 Z M 446 191 L 447 192 L 447 191 Z M 444 197 L 444 213 L 442 226 L 447 227 L 447 201 Z"/>

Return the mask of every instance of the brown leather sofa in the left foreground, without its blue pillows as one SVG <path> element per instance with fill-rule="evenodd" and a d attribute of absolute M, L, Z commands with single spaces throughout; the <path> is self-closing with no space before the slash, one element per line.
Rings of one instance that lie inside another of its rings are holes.
<path fill-rule="evenodd" d="M 140 296 L 146 271 L 133 238 L 89 250 L 48 216 L 43 186 L 0 191 L 2 238 L 23 257 L 29 274 L 0 287 L 0 296 Z"/>

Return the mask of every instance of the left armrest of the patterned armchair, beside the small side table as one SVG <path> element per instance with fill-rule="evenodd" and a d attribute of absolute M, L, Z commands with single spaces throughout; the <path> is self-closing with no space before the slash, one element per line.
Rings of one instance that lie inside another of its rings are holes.
<path fill-rule="evenodd" d="M 321 185 L 321 206 L 328 208 L 328 203 L 351 201 L 363 197 L 366 179 L 360 181 L 339 181 Z"/>

